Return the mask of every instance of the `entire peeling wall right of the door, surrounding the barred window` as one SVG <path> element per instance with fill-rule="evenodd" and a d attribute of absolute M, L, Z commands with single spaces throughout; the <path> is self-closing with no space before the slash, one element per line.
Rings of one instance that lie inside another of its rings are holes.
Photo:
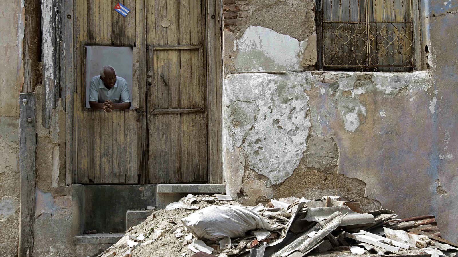
<path fill-rule="evenodd" d="M 321 72 L 313 1 L 225 0 L 228 192 L 246 204 L 338 194 L 435 214 L 458 241 L 458 4 L 421 5 L 429 70 Z"/>

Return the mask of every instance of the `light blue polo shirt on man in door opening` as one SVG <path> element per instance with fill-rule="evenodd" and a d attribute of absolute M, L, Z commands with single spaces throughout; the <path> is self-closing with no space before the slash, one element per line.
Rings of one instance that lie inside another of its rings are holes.
<path fill-rule="evenodd" d="M 131 94 L 125 79 L 116 76 L 116 83 L 109 90 L 100 79 L 100 75 L 91 79 L 89 101 L 104 103 L 106 99 L 111 100 L 113 103 L 131 102 Z"/>

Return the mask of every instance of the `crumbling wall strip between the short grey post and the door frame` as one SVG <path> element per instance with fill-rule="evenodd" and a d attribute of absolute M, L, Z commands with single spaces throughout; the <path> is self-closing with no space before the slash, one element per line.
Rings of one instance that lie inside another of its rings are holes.
<path fill-rule="evenodd" d="M 35 87 L 41 121 L 43 88 Z M 65 112 L 58 102 L 51 125 L 37 122 L 37 188 L 33 256 L 74 256 L 71 186 L 65 186 Z"/>

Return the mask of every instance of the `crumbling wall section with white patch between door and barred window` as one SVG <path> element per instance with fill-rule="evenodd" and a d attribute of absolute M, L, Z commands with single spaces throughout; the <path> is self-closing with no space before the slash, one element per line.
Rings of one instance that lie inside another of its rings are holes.
<path fill-rule="evenodd" d="M 226 71 L 302 71 L 316 63 L 315 1 L 224 0 Z"/>

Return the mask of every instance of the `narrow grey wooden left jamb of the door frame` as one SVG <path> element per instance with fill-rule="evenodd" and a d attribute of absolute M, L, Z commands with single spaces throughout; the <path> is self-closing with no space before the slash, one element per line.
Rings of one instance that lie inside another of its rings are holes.
<path fill-rule="evenodd" d="M 65 184 L 73 183 L 73 85 L 75 83 L 75 3 L 65 0 Z M 64 98 L 62 97 L 62 98 Z"/>

